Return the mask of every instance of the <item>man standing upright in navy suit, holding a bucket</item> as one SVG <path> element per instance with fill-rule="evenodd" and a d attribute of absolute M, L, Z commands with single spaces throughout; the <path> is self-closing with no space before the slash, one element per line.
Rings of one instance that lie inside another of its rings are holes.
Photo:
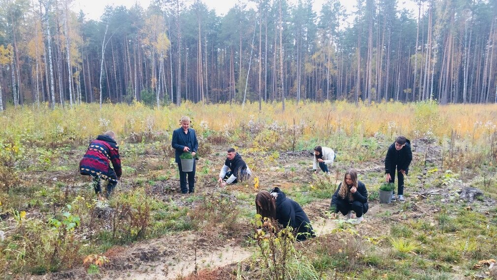
<path fill-rule="evenodd" d="M 179 120 L 181 127 L 172 133 L 171 145 L 175 149 L 175 161 L 179 169 L 179 185 L 181 193 L 192 193 L 195 190 L 195 160 L 193 161 L 193 171 L 183 172 L 179 156 L 185 152 L 191 152 L 193 158 L 198 150 L 198 141 L 195 131 L 190 129 L 190 118 L 183 116 Z M 186 187 L 186 176 L 188 175 L 188 188 Z"/>

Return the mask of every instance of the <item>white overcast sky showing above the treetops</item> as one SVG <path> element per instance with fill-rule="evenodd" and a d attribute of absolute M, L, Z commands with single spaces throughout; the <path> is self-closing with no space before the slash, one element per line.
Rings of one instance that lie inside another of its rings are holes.
<path fill-rule="evenodd" d="M 289 0 L 290 2 L 297 2 L 297 0 Z M 106 5 L 124 5 L 126 7 L 131 7 L 135 2 L 138 2 L 142 7 L 147 8 L 150 4 L 150 0 L 75 0 L 73 2 L 73 10 L 79 12 L 80 9 L 86 14 L 87 19 L 98 20 L 103 13 L 103 9 Z M 190 1 L 192 2 L 192 1 Z M 203 0 L 203 2 L 210 8 L 215 9 L 218 15 L 226 14 L 230 8 L 232 8 L 238 0 Z M 247 1 L 244 1 L 247 2 Z M 314 10 L 319 12 L 321 10 L 321 5 L 325 0 L 314 0 Z M 340 0 L 343 6 L 348 12 L 354 10 L 354 5 L 356 1 L 354 0 Z M 250 2 L 255 8 L 255 2 Z M 416 9 L 416 4 L 413 0 L 400 0 L 400 7 L 406 7 L 412 11 Z"/>

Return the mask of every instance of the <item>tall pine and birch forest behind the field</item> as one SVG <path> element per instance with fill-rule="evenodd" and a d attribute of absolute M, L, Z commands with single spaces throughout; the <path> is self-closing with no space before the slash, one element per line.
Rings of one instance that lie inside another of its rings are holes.
<path fill-rule="evenodd" d="M 497 102 L 497 1 L 201 0 L 107 6 L 98 21 L 71 0 L 1 0 L 0 110 L 81 102 L 285 99 Z M 346 20 L 351 19 L 347 24 Z M 260 107 L 259 107 L 260 108 Z"/>

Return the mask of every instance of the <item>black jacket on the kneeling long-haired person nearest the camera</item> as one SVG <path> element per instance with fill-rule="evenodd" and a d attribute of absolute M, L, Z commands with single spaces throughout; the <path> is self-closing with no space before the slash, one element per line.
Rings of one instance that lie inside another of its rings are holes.
<path fill-rule="evenodd" d="M 276 220 L 284 227 L 291 226 L 297 233 L 309 233 L 315 237 L 311 222 L 300 205 L 290 198 L 279 188 L 273 188 L 271 193 L 277 193 L 276 197 Z M 297 240 L 302 241 L 307 237 L 305 234 L 298 234 Z"/>

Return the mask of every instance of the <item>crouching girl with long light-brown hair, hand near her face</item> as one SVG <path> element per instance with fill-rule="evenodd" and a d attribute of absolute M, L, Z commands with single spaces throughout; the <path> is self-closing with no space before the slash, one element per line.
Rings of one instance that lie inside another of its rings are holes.
<path fill-rule="evenodd" d="M 352 218 L 351 211 L 354 211 L 357 219 L 352 223 L 359 224 L 368 208 L 368 190 L 363 182 L 357 180 L 357 171 L 350 168 L 331 197 L 331 210 L 342 213 L 347 220 Z"/>

